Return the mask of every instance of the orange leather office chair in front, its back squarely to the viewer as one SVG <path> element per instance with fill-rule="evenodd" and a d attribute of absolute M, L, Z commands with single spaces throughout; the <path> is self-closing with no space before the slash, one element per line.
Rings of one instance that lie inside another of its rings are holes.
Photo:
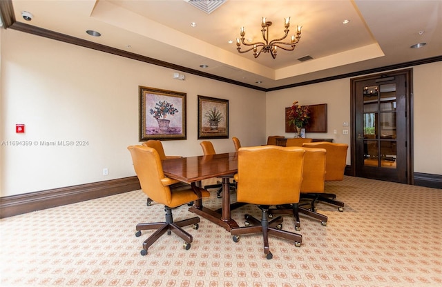
<path fill-rule="evenodd" d="M 269 250 L 269 235 L 289 239 L 300 246 L 302 235 L 282 230 L 282 217 L 269 221 L 268 210 L 273 205 L 298 203 L 304 154 L 305 150 L 296 147 L 240 148 L 238 174 L 234 176 L 238 184 L 237 201 L 256 204 L 262 212 L 261 220 L 244 215 L 246 226 L 231 229 L 233 241 L 238 242 L 239 235 L 262 232 L 267 259 L 273 257 Z"/>

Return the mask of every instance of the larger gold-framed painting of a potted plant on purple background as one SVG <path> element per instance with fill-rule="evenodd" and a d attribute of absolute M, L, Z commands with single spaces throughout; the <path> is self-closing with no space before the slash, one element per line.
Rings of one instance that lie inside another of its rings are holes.
<path fill-rule="evenodd" d="M 186 139 L 186 93 L 138 88 L 140 141 Z"/>

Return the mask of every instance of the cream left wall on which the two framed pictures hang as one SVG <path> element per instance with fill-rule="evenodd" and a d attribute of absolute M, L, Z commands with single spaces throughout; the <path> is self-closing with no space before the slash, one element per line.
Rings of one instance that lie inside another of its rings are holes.
<path fill-rule="evenodd" d="M 211 139 L 217 152 L 234 151 L 235 136 L 265 143 L 265 92 L 195 75 L 180 81 L 174 70 L 15 30 L 3 30 L 1 43 L 2 197 L 135 175 L 126 147 L 139 143 L 138 86 L 186 92 L 187 140 L 164 141 L 166 154 L 202 155 L 198 95 L 229 100 L 229 139 Z"/>

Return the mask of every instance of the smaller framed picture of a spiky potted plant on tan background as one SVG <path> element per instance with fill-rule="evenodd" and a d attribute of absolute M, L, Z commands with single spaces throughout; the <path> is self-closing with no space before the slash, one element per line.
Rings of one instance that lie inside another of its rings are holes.
<path fill-rule="evenodd" d="M 198 95 L 198 139 L 229 138 L 229 100 Z"/>

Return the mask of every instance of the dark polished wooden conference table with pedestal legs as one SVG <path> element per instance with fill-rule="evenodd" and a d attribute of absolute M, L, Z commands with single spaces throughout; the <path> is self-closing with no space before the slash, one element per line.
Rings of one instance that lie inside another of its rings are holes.
<path fill-rule="evenodd" d="M 238 172 L 238 157 L 236 152 L 167 159 L 162 161 L 162 166 L 164 175 L 191 184 L 191 186 L 196 186 L 203 179 L 221 177 L 223 192 L 221 210 L 205 208 L 202 206 L 202 200 L 199 199 L 189 208 L 189 211 L 213 221 L 215 224 L 224 227 L 227 231 L 230 231 L 231 228 L 238 227 L 236 221 L 230 217 L 231 203 L 229 188 L 230 178 Z"/>

